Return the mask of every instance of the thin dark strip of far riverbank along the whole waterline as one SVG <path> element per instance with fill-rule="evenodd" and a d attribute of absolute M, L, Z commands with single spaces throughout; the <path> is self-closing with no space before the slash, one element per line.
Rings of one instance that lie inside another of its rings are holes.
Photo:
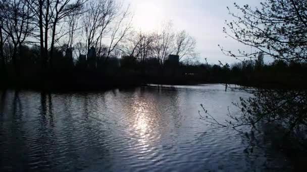
<path fill-rule="evenodd" d="M 48 80 L 7 80 L 0 85 L 1 90 L 33 90 L 43 92 L 84 92 L 84 91 L 107 91 L 112 89 L 130 89 L 142 86 L 154 85 L 197 85 L 197 84 L 226 84 L 225 82 L 195 81 L 182 79 L 140 79 L 140 77 L 101 77 L 92 78 L 67 78 L 67 79 L 48 79 Z M 306 90 L 304 84 L 282 84 L 278 82 L 228 82 L 227 84 L 240 85 L 244 88 L 261 88 L 273 90 Z"/>

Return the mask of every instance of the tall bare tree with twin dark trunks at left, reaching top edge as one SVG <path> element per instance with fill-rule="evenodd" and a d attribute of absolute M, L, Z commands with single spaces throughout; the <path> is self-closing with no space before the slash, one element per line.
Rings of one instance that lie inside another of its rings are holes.
<path fill-rule="evenodd" d="M 56 39 L 58 27 L 64 22 L 64 18 L 75 15 L 75 11 L 79 10 L 86 0 L 25 0 L 31 7 L 34 16 L 33 25 L 38 28 L 34 38 L 38 38 L 40 44 L 40 57 L 42 60 L 42 69 L 45 69 L 47 63 L 52 67 L 53 52 L 55 43 L 62 37 Z M 63 26 L 60 26 L 63 27 Z M 49 29 L 51 29 L 51 40 Z M 62 33 L 62 32 L 61 32 Z M 67 34 L 64 32 L 62 34 Z M 50 49 L 48 48 L 50 45 Z M 50 54 L 48 53 L 50 51 Z"/>

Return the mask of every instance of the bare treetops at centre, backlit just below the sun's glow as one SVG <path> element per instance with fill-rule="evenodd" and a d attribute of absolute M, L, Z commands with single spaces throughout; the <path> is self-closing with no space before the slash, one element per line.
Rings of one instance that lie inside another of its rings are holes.
<path fill-rule="evenodd" d="M 178 55 L 181 61 L 195 58 L 197 56 L 195 39 L 185 30 L 175 34 L 171 27 L 172 24 L 169 23 L 161 33 L 134 34 L 127 43 L 125 54 L 135 58 L 140 57 L 141 61 L 152 55 L 157 57 L 161 64 L 171 53 Z"/>

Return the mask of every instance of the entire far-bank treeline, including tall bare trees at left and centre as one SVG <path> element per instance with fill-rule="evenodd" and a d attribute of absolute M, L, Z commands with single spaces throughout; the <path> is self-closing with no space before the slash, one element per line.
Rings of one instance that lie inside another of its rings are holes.
<path fill-rule="evenodd" d="M 1 87 L 305 85 L 305 64 L 300 61 L 276 58 L 264 64 L 257 53 L 257 60 L 233 65 L 200 63 L 196 41 L 186 31 L 175 32 L 172 23 L 165 23 L 145 33 L 135 31 L 131 20 L 129 8 L 114 0 L 0 0 Z"/>

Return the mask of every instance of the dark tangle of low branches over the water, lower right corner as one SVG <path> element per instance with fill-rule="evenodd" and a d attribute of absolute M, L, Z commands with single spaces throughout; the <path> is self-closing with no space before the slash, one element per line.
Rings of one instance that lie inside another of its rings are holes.
<path fill-rule="evenodd" d="M 257 89 L 252 94 L 237 104 L 243 114 L 237 121 L 261 130 L 271 149 L 281 151 L 299 169 L 307 152 L 307 92 Z"/>

